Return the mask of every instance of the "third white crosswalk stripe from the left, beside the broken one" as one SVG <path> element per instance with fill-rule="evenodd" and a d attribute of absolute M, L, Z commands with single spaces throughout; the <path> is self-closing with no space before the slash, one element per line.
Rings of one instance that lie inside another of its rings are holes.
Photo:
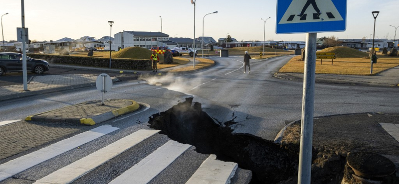
<path fill-rule="evenodd" d="M 190 147 L 170 140 L 109 184 L 147 184 Z"/>

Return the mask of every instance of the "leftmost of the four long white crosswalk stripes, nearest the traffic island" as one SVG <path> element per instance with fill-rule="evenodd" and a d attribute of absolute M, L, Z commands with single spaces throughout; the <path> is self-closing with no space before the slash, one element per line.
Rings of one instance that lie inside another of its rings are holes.
<path fill-rule="evenodd" d="M 89 131 L 80 133 L 68 139 L 64 139 L 50 146 L 21 156 L 17 159 L 8 161 L 0 165 L 0 181 L 10 178 L 22 171 L 25 171 L 37 164 L 40 164 L 46 160 L 54 158 L 62 153 L 65 153 L 71 149 L 74 149 L 80 145 L 88 143 L 94 139 L 97 139 L 103 135 L 113 132 L 119 128 L 112 127 L 111 125 L 103 125 L 97 128 L 93 128 Z"/>

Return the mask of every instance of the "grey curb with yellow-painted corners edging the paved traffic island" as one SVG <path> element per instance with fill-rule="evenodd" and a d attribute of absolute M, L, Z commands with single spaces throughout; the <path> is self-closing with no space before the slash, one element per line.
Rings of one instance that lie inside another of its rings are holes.
<path fill-rule="evenodd" d="M 59 108 L 59 109 L 53 109 L 53 110 L 49 110 L 49 111 L 46 111 L 46 112 L 41 112 L 41 113 L 38 113 L 38 114 L 35 114 L 35 115 L 27 116 L 25 118 L 25 121 L 66 122 L 66 123 L 76 123 L 76 124 L 83 124 L 83 125 L 92 126 L 92 125 L 107 121 L 109 119 L 112 119 L 114 117 L 117 117 L 117 116 L 120 116 L 120 115 L 123 115 L 123 114 L 127 114 L 127 113 L 130 113 L 130 112 L 134 112 L 134 111 L 136 111 L 137 109 L 140 108 L 140 105 L 136 101 L 131 100 L 131 99 L 125 99 L 125 100 L 132 101 L 132 104 L 129 105 L 129 106 L 126 106 L 126 107 L 122 107 L 122 108 L 119 108 L 119 109 L 116 109 L 116 110 L 112 110 L 112 111 L 108 111 L 108 112 L 102 113 L 100 115 L 93 116 L 91 118 L 62 118 L 62 117 L 40 116 L 41 114 L 44 114 L 44 113 L 47 113 L 47 112 L 51 112 L 51 111 L 62 109 L 62 108 Z M 78 103 L 78 104 L 84 104 L 84 103 L 88 103 L 88 102 L 90 102 L 90 101 L 86 101 L 86 102 L 82 102 L 82 103 Z M 75 105 L 78 105 L 78 104 L 75 104 Z M 71 107 L 71 106 L 75 106 L 75 105 L 70 105 L 70 106 L 67 106 L 67 107 Z M 63 108 L 67 108 L 67 107 L 63 107 Z"/>

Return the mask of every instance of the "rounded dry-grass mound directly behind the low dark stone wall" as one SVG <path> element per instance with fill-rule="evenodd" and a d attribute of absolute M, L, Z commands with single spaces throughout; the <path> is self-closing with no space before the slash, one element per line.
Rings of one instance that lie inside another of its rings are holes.
<path fill-rule="evenodd" d="M 114 54 L 112 58 L 150 59 L 151 50 L 142 47 L 127 47 Z"/>

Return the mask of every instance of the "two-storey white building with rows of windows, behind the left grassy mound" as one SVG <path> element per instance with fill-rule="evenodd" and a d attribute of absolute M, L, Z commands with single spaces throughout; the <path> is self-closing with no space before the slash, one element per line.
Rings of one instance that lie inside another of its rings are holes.
<path fill-rule="evenodd" d="M 162 41 L 168 41 L 169 35 L 161 32 L 144 31 L 122 31 L 114 34 L 115 45 L 120 48 L 126 47 L 151 47 L 162 46 Z"/>

